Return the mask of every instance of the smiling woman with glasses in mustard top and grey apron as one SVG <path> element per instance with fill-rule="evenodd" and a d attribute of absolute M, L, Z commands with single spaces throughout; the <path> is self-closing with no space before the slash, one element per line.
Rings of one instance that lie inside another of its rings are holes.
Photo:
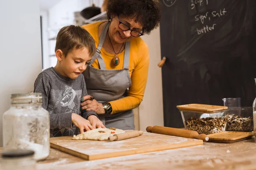
<path fill-rule="evenodd" d="M 95 111 L 108 128 L 134 129 L 132 109 L 143 99 L 149 65 L 140 36 L 159 25 L 160 6 L 155 0 L 111 0 L 107 8 L 108 21 L 82 26 L 93 36 L 97 53 L 83 72 L 95 99 L 84 96 L 81 109 Z"/>

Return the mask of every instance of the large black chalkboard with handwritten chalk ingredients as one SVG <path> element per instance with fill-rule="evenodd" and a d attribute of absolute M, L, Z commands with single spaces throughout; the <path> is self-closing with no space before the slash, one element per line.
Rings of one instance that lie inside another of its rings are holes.
<path fill-rule="evenodd" d="M 183 127 L 177 105 L 256 97 L 256 1 L 160 0 L 164 125 Z"/>

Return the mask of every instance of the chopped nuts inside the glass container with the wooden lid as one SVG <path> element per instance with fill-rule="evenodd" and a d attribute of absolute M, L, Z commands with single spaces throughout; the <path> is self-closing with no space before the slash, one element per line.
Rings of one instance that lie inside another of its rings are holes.
<path fill-rule="evenodd" d="M 207 117 L 207 118 L 194 118 L 185 121 L 188 130 L 195 130 L 199 134 L 211 134 L 223 132 L 226 130 L 227 117 Z"/>

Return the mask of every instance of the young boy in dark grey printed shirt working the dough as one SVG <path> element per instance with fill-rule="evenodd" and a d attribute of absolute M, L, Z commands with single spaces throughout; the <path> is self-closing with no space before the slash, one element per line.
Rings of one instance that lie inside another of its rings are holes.
<path fill-rule="evenodd" d="M 81 97 L 87 95 L 81 73 L 95 52 L 93 37 L 85 29 L 66 26 L 58 32 L 55 46 L 58 62 L 54 68 L 41 72 L 34 85 L 34 92 L 42 93 L 43 108 L 50 113 L 51 137 L 73 136 L 94 129 L 90 122 L 105 127 L 94 111 L 82 111 L 79 115 Z"/>

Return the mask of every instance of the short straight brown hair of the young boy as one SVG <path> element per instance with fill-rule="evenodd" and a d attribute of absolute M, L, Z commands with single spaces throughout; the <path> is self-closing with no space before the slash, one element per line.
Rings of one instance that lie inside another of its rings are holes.
<path fill-rule="evenodd" d="M 95 41 L 88 31 L 80 26 L 65 26 L 57 34 L 55 52 L 60 49 L 66 57 L 73 48 L 87 48 L 90 57 L 96 53 Z"/>

